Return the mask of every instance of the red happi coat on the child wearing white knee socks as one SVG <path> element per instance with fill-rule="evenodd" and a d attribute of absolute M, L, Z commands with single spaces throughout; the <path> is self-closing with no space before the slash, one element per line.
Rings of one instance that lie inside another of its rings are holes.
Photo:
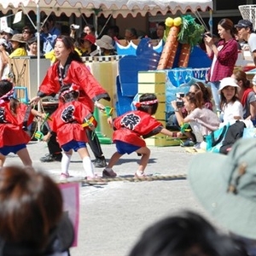
<path fill-rule="evenodd" d="M 84 127 L 84 118 L 90 119 L 91 113 L 81 102 L 67 102 L 61 105 L 51 115 L 49 127 L 55 131 L 60 145 L 71 142 L 88 142 Z"/>

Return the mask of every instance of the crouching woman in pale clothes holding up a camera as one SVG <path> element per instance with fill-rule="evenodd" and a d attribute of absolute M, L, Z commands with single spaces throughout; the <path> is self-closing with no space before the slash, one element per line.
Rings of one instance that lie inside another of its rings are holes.
<path fill-rule="evenodd" d="M 203 93 L 201 90 L 197 90 L 195 93 L 188 92 L 183 97 L 183 102 L 184 108 L 189 113 L 185 118 L 183 118 L 182 109 L 177 107 L 177 101 L 172 101 L 177 122 L 178 124 L 187 123 L 191 126 L 197 142 L 195 147 L 200 148 L 204 136 L 218 129 L 218 115 L 213 113 L 212 110 L 204 108 Z"/>

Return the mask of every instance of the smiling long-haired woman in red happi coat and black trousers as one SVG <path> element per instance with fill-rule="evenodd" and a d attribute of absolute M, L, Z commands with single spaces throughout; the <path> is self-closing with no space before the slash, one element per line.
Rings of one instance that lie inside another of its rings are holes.
<path fill-rule="evenodd" d="M 104 90 L 99 82 L 93 77 L 79 54 L 74 49 L 73 38 L 68 36 L 59 36 L 55 42 L 55 57 L 57 61 L 51 67 L 44 77 L 42 84 L 38 90 L 38 96 L 32 98 L 31 102 L 38 102 L 44 96 L 55 96 L 61 90 L 63 84 L 79 85 L 79 102 L 90 110 L 94 111 L 94 107 L 104 109 L 105 107 L 98 102 L 101 99 L 110 101 L 108 92 Z M 87 129 L 87 137 L 89 139 L 90 148 L 96 157 L 95 166 L 106 166 L 106 160 L 102 153 L 102 148 L 98 137 L 92 138 L 91 131 Z M 61 160 L 61 148 L 56 143 L 55 136 L 50 137 L 49 145 L 54 144 L 53 148 L 49 147 L 49 155 L 41 158 L 42 161 L 55 160 L 58 156 Z"/>

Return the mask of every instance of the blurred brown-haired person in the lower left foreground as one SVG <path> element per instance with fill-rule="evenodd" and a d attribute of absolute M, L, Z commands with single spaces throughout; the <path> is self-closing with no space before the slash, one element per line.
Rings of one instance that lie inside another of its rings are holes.
<path fill-rule="evenodd" d="M 32 167 L 0 172 L 0 254 L 68 256 L 73 224 L 63 211 L 58 185 Z"/>

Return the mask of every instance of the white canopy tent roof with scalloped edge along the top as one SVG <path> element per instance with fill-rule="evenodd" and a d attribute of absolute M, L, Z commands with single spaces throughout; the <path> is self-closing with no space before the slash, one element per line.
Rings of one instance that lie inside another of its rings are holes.
<path fill-rule="evenodd" d="M 65 13 L 67 16 L 75 14 L 77 16 L 84 14 L 90 16 L 92 14 L 117 15 L 128 14 L 136 16 L 137 14 L 156 15 L 157 12 L 166 15 L 167 12 L 176 14 L 181 11 L 183 14 L 188 10 L 195 12 L 201 10 L 212 9 L 212 0 L 1 0 L 0 7 L 3 12 L 12 9 L 14 12 L 19 9 L 33 10 L 35 13 L 40 10 L 46 14 L 54 12 L 59 16 Z"/>

